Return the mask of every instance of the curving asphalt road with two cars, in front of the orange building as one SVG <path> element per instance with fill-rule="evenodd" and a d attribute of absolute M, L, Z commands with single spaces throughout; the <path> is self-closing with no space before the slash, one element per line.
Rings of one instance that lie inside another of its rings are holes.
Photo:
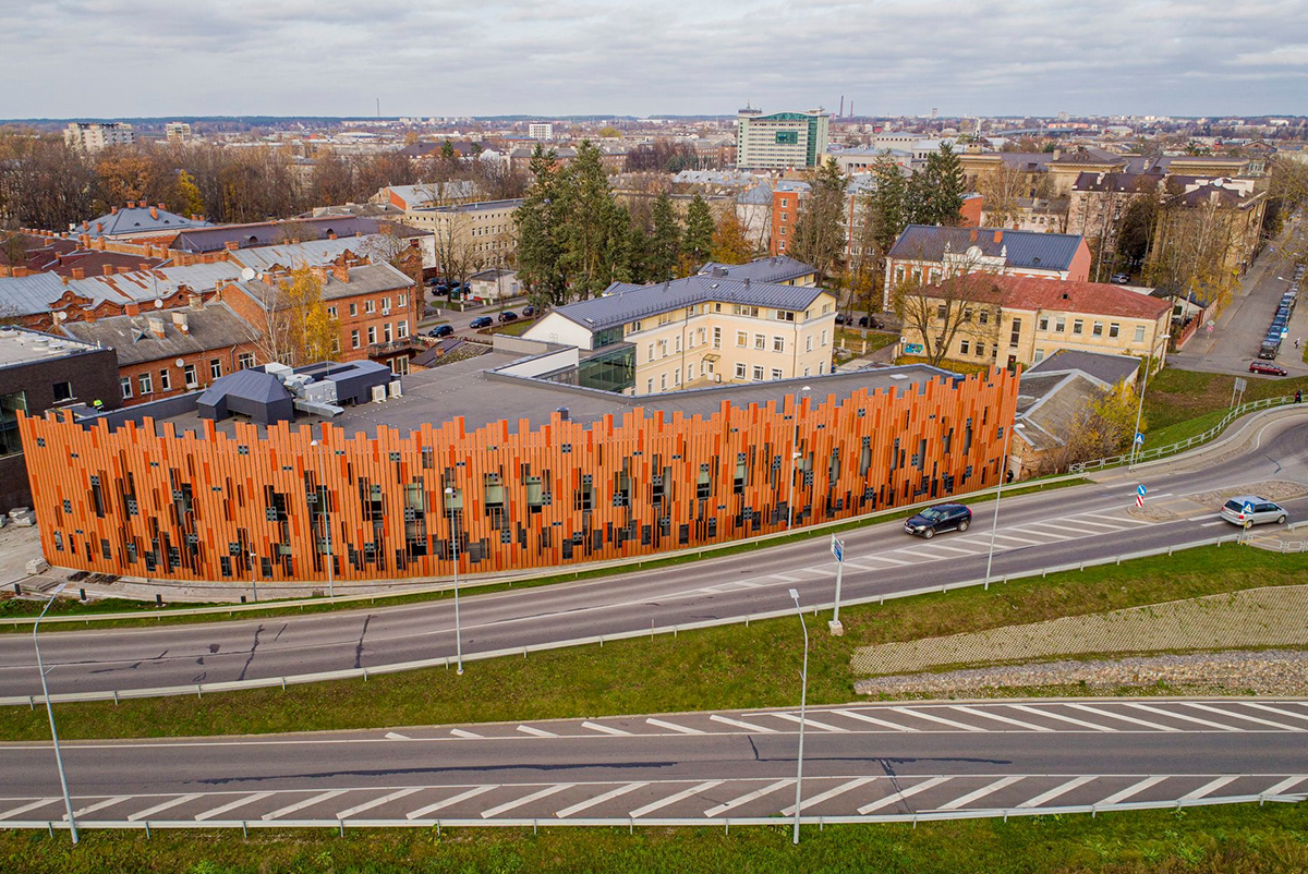
<path fill-rule="evenodd" d="M 1283 417 L 1250 425 L 1240 451 L 1150 467 L 1104 481 L 1007 498 L 995 539 L 994 576 L 1193 543 L 1230 531 L 1216 506 L 1185 495 L 1269 479 L 1308 483 L 1308 421 Z M 1137 476 L 1139 479 L 1137 479 Z M 1177 518 L 1133 516 L 1137 481 L 1148 500 L 1176 502 Z M 1308 517 L 1308 498 L 1284 502 Z M 1186 509 L 1193 508 L 1193 509 Z M 967 534 L 931 542 L 900 523 L 867 526 L 845 538 L 845 598 L 874 598 L 984 576 L 994 504 L 978 505 Z M 657 624 L 744 619 L 833 597 L 835 564 L 827 540 L 705 560 L 620 577 L 466 597 L 463 652 L 494 652 L 593 635 L 637 632 Z M 220 680 L 280 678 L 453 657 L 451 601 L 331 614 L 229 620 L 158 628 L 61 631 L 42 636 L 52 693 L 126 691 Z M 476 670 L 475 665 L 468 670 Z M 0 636 L 0 696 L 41 693 L 27 635 Z"/>

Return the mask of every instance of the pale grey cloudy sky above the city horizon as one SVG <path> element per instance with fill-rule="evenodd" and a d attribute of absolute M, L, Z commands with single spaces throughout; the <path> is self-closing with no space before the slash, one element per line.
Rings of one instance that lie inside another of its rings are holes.
<path fill-rule="evenodd" d="M 1308 113 L 1308 0 L 0 0 L 0 118 Z"/>

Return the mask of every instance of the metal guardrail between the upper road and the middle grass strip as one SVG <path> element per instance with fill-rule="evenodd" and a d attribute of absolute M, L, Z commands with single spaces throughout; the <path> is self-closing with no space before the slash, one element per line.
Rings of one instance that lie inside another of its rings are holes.
<path fill-rule="evenodd" d="M 893 591 L 879 595 L 866 595 L 862 598 L 842 598 L 841 603 L 846 607 L 854 604 L 870 604 L 878 603 L 883 604 L 887 601 L 895 601 L 896 598 L 913 598 L 917 595 L 930 595 L 937 593 L 947 593 L 952 589 L 969 589 L 972 586 L 982 586 L 989 589 L 991 584 L 1005 584 L 1010 580 L 1023 580 L 1027 577 L 1046 577 L 1050 573 L 1063 573 L 1069 570 L 1084 570 L 1086 568 L 1093 568 L 1107 564 L 1121 564 L 1122 561 L 1130 561 L 1131 559 L 1147 559 L 1158 555 L 1172 555 L 1177 550 L 1193 550 L 1203 546 L 1222 546 L 1223 543 L 1235 543 L 1243 536 L 1243 531 L 1239 534 L 1227 534 L 1216 538 L 1206 538 L 1203 540 L 1194 540 L 1190 543 L 1182 543 L 1179 546 L 1158 547 L 1154 550 L 1144 550 L 1142 552 L 1131 552 L 1127 555 L 1117 556 L 1104 556 L 1101 559 L 1090 559 L 1086 561 L 1074 561 L 1063 565 L 1057 565 L 1052 568 L 1037 568 L 1032 570 L 1019 570 L 1016 573 L 1007 573 L 1002 576 L 995 576 L 990 581 L 985 578 L 964 580 L 960 582 L 946 582 L 938 586 L 923 586 L 920 589 L 909 589 L 905 591 Z M 816 616 L 823 610 L 831 610 L 835 607 L 835 602 L 825 602 L 819 604 L 811 604 L 806 610 L 812 608 Z M 654 637 L 655 635 L 672 635 L 674 637 L 683 631 L 698 631 L 702 628 L 717 628 L 719 625 L 736 625 L 742 620 L 746 625 L 751 621 L 759 621 L 765 619 L 780 619 L 783 616 L 794 616 L 793 608 L 783 610 L 770 610 L 759 614 L 747 614 L 746 616 L 725 616 L 717 619 L 705 619 L 695 623 L 674 624 L 655 627 L 653 621 L 647 629 L 633 629 L 617 632 L 613 635 L 591 635 L 587 637 L 574 637 L 572 640 L 556 640 L 547 641 L 542 644 L 527 644 L 525 646 L 513 646 L 505 649 L 493 649 L 483 653 L 463 653 L 464 662 L 484 661 L 489 658 L 502 658 L 506 656 L 522 656 L 527 658 L 530 653 L 540 653 L 551 649 L 565 649 L 569 646 L 586 646 L 591 644 L 598 644 L 603 646 L 606 642 L 612 642 L 615 640 L 632 640 L 636 637 Z M 48 619 L 48 618 L 47 618 Z M 370 676 L 379 676 L 385 674 L 398 674 L 402 671 L 412 671 L 432 667 L 449 667 L 454 663 L 453 656 L 442 656 L 438 658 L 422 658 L 409 662 L 392 662 L 390 665 L 378 665 L 377 667 L 352 667 L 336 671 L 317 671 L 313 674 L 294 674 L 288 676 L 263 676 L 249 680 L 226 680 L 217 683 L 188 683 L 184 686 L 158 686 L 152 688 L 135 688 L 135 690 L 122 690 L 122 691 L 107 691 L 107 692 L 60 692 L 50 696 L 50 700 L 55 704 L 71 703 L 71 701 L 114 701 L 115 704 L 124 699 L 136 697 L 166 697 L 177 695 L 194 695 L 196 697 L 204 697 L 205 692 L 235 692 L 242 690 L 255 690 L 255 688 L 276 688 L 281 687 L 285 690 L 288 686 L 297 686 L 303 683 L 322 683 L 326 680 L 345 680 L 345 679 L 362 679 L 368 680 Z M 43 704 L 44 697 L 41 695 L 9 695 L 0 697 L 0 707 L 21 707 L 26 704 L 29 709 L 35 709 L 37 704 Z"/>

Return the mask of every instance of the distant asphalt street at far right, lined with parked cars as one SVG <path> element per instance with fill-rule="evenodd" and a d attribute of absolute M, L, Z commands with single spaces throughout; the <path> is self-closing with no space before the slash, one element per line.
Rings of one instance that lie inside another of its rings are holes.
<path fill-rule="evenodd" d="M 1296 224 L 1286 232 L 1303 237 L 1308 230 Z M 1236 298 L 1218 318 L 1213 334 L 1202 328 L 1186 348 L 1168 356 L 1168 364 L 1185 370 L 1210 373 L 1249 374 L 1249 362 L 1258 357 L 1258 347 L 1277 314 L 1281 296 L 1290 288 L 1294 266 L 1281 259 L 1284 239 L 1270 250 L 1264 250 L 1245 275 Z M 1277 364 L 1290 370 L 1290 376 L 1308 376 L 1303 351 L 1295 349 L 1295 339 L 1308 340 L 1308 306 L 1299 306 L 1290 321 L 1290 336 L 1283 341 Z"/>

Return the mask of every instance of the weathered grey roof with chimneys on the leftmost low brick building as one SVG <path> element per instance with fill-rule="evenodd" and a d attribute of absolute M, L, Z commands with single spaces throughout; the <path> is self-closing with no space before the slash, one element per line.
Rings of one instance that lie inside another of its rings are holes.
<path fill-rule="evenodd" d="M 173 322 L 173 314 L 186 317 L 187 330 Z M 164 336 L 150 330 L 150 319 L 164 324 Z M 141 315 L 114 315 L 94 322 L 64 322 L 60 330 L 84 343 L 110 347 L 118 353 L 118 364 L 144 364 L 162 358 L 226 349 L 241 343 L 251 343 L 258 331 L 222 302 L 208 304 L 203 309 L 190 306 L 171 310 L 146 310 Z M 228 365 L 230 366 L 230 361 Z"/>

